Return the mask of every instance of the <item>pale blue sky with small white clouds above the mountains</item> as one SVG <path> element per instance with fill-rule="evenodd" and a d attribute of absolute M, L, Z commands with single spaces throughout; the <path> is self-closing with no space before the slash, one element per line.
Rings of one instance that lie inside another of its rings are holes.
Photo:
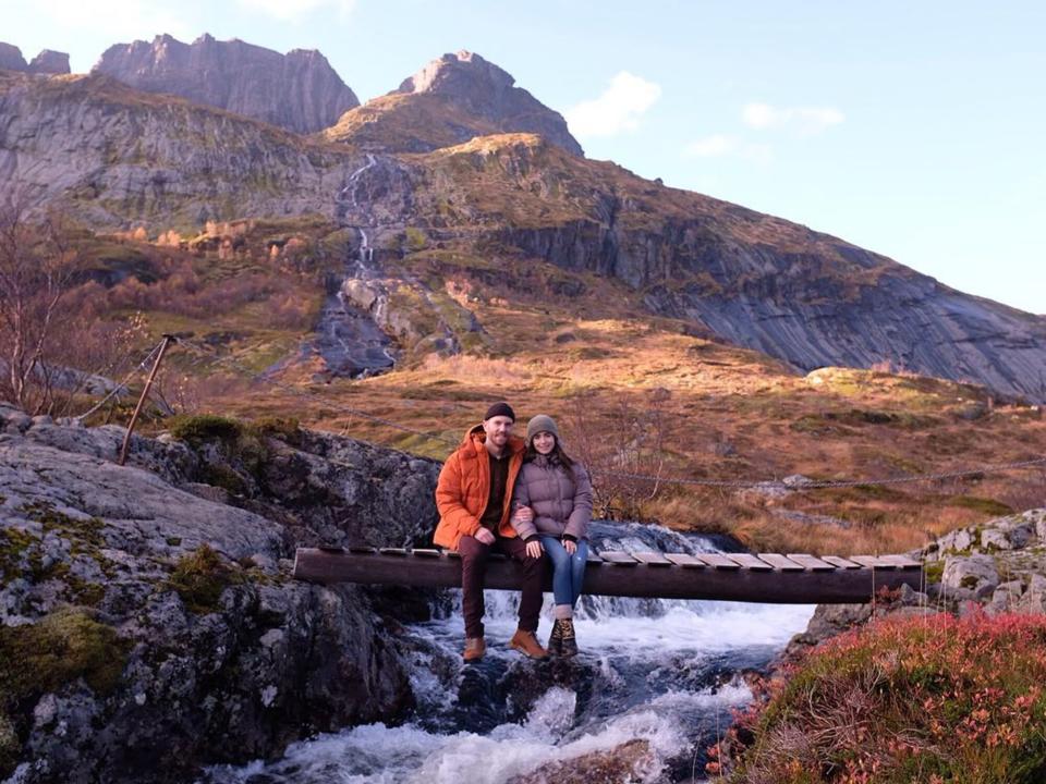
<path fill-rule="evenodd" d="M 74 71 L 204 32 L 324 52 L 362 100 L 469 49 L 592 158 L 1046 313 L 1046 3 L 0 0 Z"/>

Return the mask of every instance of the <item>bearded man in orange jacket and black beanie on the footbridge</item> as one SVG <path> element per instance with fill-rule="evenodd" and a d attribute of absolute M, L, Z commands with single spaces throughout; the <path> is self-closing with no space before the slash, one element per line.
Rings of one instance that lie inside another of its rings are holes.
<path fill-rule="evenodd" d="M 469 430 L 447 458 L 436 486 L 439 525 L 433 541 L 461 554 L 462 611 L 465 616 L 466 662 L 487 651 L 483 637 L 483 583 L 487 556 L 502 552 L 521 565 L 523 592 L 520 625 L 509 647 L 532 659 L 548 656 L 537 641 L 542 611 L 542 553 L 530 547 L 509 523 L 512 487 L 523 465 L 523 439 L 512 434 L 515 414 L 508 403 L 495 403 L 483 424 Z"/>

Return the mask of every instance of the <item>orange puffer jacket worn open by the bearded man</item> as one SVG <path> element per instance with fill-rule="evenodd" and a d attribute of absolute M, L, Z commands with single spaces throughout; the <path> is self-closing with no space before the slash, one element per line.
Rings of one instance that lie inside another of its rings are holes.
<path fill-rule="evenodd" d="M 433 536 L 433 541 L 439 547 L 457 550 L 458 541 L 463 536 L 474 536 L 479 530 L 479 518 L 483 517 L 490 498 L 490 458 L 484 445 L 486 438 L 483 426 L 476 425 L 465 433 L 461 444 L 447 458 L 439 473 L 439 481 L 436 483 L 439 525 Z M 498 535 L 514 537 L 515 530 L 509 523 L 509 506 L 515 477 L 523 465 L 525 444 L 518 436 L 510 436 L 506 449 L 510 454 L 509 480 L 504 487 Z"/>

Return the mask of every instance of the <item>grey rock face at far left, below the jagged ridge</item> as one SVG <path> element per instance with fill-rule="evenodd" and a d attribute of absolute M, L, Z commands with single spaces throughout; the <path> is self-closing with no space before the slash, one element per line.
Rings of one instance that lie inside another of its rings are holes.
<path fill-rule="evenodd" d="M 0 74 L 0 198 L 88 224 L 331 215 L 358 157 L 105 76 Z"/>

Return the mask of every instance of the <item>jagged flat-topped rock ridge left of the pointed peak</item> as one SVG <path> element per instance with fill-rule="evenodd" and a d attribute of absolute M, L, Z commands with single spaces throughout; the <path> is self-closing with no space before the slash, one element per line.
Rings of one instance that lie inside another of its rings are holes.
<path fill-rule="evenodd" d="M 181 96 L 296 133 L 325 128 L 360 105 L 318 51 L 280 54 L 209 35 L 192 44 L 169 35 L 151 44 L 118 44 L 93 71 L 147 93 Z"/>

